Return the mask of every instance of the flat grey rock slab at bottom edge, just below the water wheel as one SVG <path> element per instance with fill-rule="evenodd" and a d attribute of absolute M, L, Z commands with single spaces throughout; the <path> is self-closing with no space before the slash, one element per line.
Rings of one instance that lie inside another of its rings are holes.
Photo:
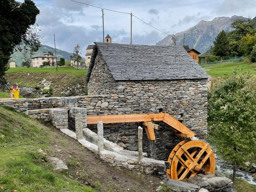
<path fill-rule="evenodd" d="M 191 183 L 186 183 L 186 182 L 174 180 L 174 179 L 169 179 L 168 181 L 166 181 L 166 184 L 173 191 L 176 191 L 176 192 L 187 192 L 187 191 L 195 192 L 197 191 L 197 189 L 200 188 L 198 185 L 194 185 Z"/>

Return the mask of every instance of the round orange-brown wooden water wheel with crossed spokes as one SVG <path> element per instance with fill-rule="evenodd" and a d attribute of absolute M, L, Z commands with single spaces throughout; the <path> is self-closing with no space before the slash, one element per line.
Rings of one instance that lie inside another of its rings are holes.
<path fill-rule="evenodd" d="M 214 173 L 215 156 L 211 147 L 200 140 L 184 140 L 177 144 L 169 155 L 170 169 L 167 176 L 182 180 L 198 173 Z"/>

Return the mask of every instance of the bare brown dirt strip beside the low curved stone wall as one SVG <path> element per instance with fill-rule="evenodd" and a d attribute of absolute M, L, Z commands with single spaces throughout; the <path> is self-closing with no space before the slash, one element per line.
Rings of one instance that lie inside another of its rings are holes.
<path fill-rule="evenodd" d="M 159 186 L 161 179 L 157 176 L 135 174 L 128 170 L 112 167 L 73 138 L 59 130 L 52 144 L 54 151 L 49 155 L 64 161 L 69 167 L 69 176 L 81 183 L 91 185 L 101 191 L 144 191 L 152 192 Z M 55 135 L 55 134 L 54 134 Z"/>

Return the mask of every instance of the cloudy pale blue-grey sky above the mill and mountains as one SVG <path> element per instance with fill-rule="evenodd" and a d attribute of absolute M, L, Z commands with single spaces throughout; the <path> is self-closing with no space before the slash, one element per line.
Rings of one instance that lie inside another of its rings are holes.
<path fill-rule="evenodd" d="M 200 20 L 218 16 L 254 17 L 256 0 L 76 0 L 78 2 L 133 13 L 134 16 L 167 33 L 193 27 Z M 102 41 L 101 9 L 70 0 L 34 0 L 40 15 L 36 23 L 42 44 L 73 52 L 79 44 L 82 56 L 88 44 Z M 40 5 L 40 6 L 39 6 Z M 130 15 L 104 10 L 104 31 L 114 43 L 130 43 Z M 166 35 L 133 17 L 133 44 L 155 45 Z"/>

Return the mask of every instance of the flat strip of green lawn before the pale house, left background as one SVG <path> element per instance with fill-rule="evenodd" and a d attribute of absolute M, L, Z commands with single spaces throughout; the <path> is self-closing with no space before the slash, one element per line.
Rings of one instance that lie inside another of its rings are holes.
<path fill-rule="evenodd" d="M 26 68 L 26 67 L 17 67 L 10 68 L 7 70 L 8 72 L 64 72 L 64 73 L 81 73 L 86 74 L 87 70 L 75 69 L 71 66 L 58 67 L 58 71 L 56 68 Z"/>

